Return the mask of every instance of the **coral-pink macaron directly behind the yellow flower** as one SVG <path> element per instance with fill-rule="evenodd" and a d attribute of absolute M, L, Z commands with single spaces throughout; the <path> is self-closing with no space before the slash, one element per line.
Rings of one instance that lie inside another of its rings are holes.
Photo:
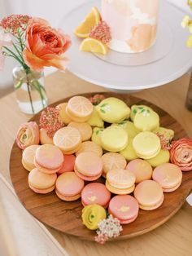
<path fill-rule="evenodd" d="M 89 183 L 81 192 L 82 205 L 101 205 L 107 208 L 111 199 L 111 192 L 102 183 Z"/>

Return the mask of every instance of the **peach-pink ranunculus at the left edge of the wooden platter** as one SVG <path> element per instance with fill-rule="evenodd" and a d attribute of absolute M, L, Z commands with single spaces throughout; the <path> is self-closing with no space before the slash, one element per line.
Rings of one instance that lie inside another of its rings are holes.
<path fill-rule="evenodd" d="M 19 148 L 24 149 L 30 145 L 39 143 L 39 126 L 35 121 L 22 124 L 17 131 L 16 143 Z"/>

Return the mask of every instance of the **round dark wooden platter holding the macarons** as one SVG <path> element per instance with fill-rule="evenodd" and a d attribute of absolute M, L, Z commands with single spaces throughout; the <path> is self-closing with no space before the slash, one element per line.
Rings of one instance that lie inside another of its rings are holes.
<path fill-rule="evenodd" d="M 160 117 L 160 125 L 170 128 L 175 131 L 175 138 L 183 138 L 186 136 L 185 130 L 181 125 L 172 118 L 168 113 L 164 112 L 154 104 L 145 100 L 137 99 L 130 95 L 117 95 L 112 93 L 102 93 L 106 97 L 115 96 L 124 100 L 129 106 L 133 104 L 146 104 L 153 108 Z M 90 97 L 93 94 L 85 94 L 85 97 Z M 69 99 L 69 98 L 68 98 Z M 55 106 L 61 102 L 67 102 L 68 99 L 63 99 L 51 106 Z M 31 120 L 39 121 L 40 113 L 35 115 Z M 10 174 L 13 187 L 17 196 L 24 207 L 33 214 L 41 223 L 55 228 L 59 232 L 64 232 L 68 235 L 78 236 L 81 239 L 94 241 L 95 232 L 87 229 L 81 222 L 81 200 L 66 202 L 61 201 L 55 192 L 50 192 L 46 195 L 36 194 L 28 188 L 28 171 L 24 170 L 21 163 L 22 151 L 13 144 L 10 158 Z M 104 179 L 100 179 L 104 182 Z M 145 211 L 139 210 L 137 219 L 130 224 L 123 226 L 123 232 L 116 240 L 127 239 L 133 236 L 142 235 L 146 232 L 159 227 L 165 223 L 173 214 L 184 204 L 186 196 L 189 195 L 192 188 L 192 171 L 183 172 L 181 187 L 174 192 L 164 193 L 164 203 L 157 210 Z"/>

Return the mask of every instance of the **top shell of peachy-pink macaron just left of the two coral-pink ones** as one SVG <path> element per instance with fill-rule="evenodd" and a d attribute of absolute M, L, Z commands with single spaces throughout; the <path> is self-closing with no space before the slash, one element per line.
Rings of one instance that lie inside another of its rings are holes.
<path fill-rule="evenodd" d="M 63 196 L 76 196 L 83 188 L 84 181 L 74 172 L 63 173 L 56 181 L 56 189 Z"/>

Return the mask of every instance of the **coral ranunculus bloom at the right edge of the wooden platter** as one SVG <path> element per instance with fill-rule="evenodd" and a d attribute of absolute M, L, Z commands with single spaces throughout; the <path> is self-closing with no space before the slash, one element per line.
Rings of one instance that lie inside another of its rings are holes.
<path fill-rule="evenodd" d="M 170 161 L 181 170 L 192 170 L 192 140 L 184 138 L 174 141 L 170 150 Z"/>

